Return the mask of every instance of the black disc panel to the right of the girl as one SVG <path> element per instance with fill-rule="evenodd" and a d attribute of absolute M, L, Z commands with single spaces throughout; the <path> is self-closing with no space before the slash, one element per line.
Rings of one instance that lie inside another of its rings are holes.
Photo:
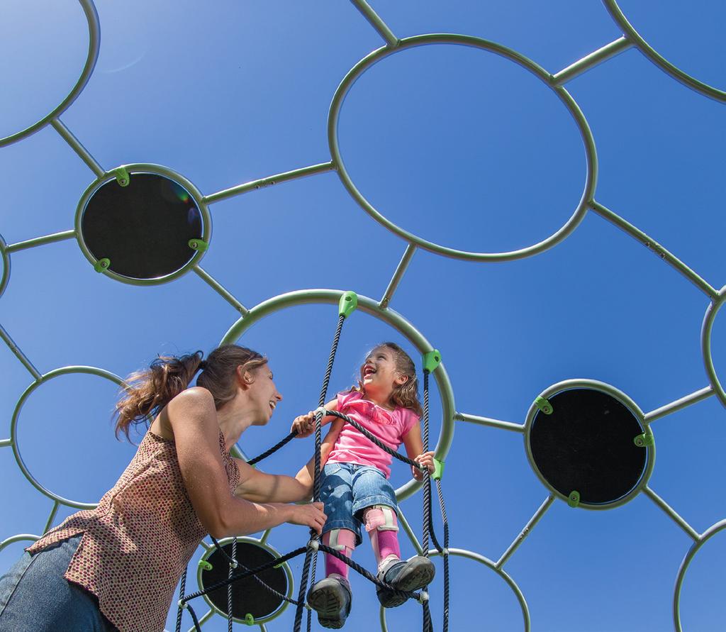
<path fill-rule="evenodd" d="M 645 471 L 646 450 L 633 439 L 643 434 L 635 415 L 615 397 L 595 389 L 570 389 L 548 398 L 532 421 L 529 446 L 537 469 L 555 490 L 580 502 L 614 503 Z"/>

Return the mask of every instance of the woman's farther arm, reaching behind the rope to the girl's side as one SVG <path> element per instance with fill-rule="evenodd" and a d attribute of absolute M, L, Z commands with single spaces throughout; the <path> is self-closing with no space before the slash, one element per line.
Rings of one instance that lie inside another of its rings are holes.
<path fill-rule="evenodd" d="M 342 419 L 335 418 L 333 426 L 323 439 L 320 445 L 321 467 L 325 465 L 330 450 L 333 450 L 333 445 L 335 445 L 344 423 Z M 235 461 L 237 461 L 237 466 L 240 468 L 240 484 L 237 485 L 234 494 L 240 498 L 256 503 L 273 501 L 288 503 L 306 501 L 312 495 L 315 471 L 314 456 L 298 471 L 295 478 L 280 474 L 265 474 L 254 469 L 245 461 L 240 461 L 240 459 L 235 459 Z"/>

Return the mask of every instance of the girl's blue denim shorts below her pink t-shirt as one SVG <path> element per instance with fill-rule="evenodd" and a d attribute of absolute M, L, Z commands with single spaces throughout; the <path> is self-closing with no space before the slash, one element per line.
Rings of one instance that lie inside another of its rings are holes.
<path fill-rule="evenodd" d="M 380 469 L 356 463 L 327 463 L 322 471 L 320 501 L 327 521 L 322 532 L 348 529 L 360 544 L 362 513 L 372 505 L 386 505 L 398 513 L 396 493 Z"/>

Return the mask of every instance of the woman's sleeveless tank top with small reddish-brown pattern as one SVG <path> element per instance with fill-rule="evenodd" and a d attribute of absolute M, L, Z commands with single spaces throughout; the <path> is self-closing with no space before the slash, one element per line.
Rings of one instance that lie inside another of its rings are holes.
<path fill-rule="evenodd" d="M 234 494 L 237 463 L 219 450 Z M 181 479 L 171 439 L 147 432 L 121 478 L 96 509 L 78 511 L 25 550 L 83 533 L 65 578 L 97 596 L 105 617 L 121 632 L 160 632 L 174 589 L 207 531 Z"/>

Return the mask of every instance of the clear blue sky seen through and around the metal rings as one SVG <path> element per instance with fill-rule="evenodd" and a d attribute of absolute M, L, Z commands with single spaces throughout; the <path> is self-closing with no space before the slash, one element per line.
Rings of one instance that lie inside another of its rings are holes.
<path fill-rule="evenodd" d="M 448 3 L 378 0 L 371 6 L 398 37 L 465 33 L 504 44 L 552 73 L 619 38 L 599 1 Z M 635 28 L 666 59 L 723 89 L 720 34 L 726 8 L 702 0 L 622 0 Z M 97 66 L 62 121 L 105 168 L 158 163 L 203 193 L 330 160 L 327 113 L 348 70 L 383 45 L 354 4 L 321 0 L 97 2 Z M 0 41 L 0 137 L 52 110 L 76 82 L 87 47 L 79 5 L 11 1 Z M 687 89 L 637 49 L 566 84 L 590 125 L 599 161 L 595 199 L 635 224 L 715 288 L 724 285 L 723 105 Z M 340 150 L 351 178 L 378 211 L 444 246 L 507 251 L 559 230 L 582 195 L 585 154 L 566 108 L 512 62 L 462 46 L 425 46 L 381 61 L 356 82 L 340 113 Z M 73 228 L 94 175 L 49 127 L 0 150 L 7 243 Z M 201 265 L 246 307 L 306 288 L 383 296 L 406 243 L 348 195 L 335 172 L 286 182 L 211 205 L 213 236 Z M 0 324 L 41 371 L 92 365 L 119 376 L 158 353 L 208 351 L 238 314 L 193 273 L 138 287 L 94 272 L 75 240 L 12 254 Z M 540 392 L 569 378 L 616 386 L 644 411 L 708 385 L 700 331 L 709 299 L 621 230 L 589 212 L 562 243 L 505 263 L 467 262 L 418 250 L 391 308 L 440 349 L 458 411 L 523 423 Z M 267 317 L 241 343 L 268 355 L 284 396 L 249 455 L 287 434 L 314 408 L 335 330 L 335 309 L 306 306 Z M 331 393 L 351 384 L 365 352 L 401 339 L 356 313 L 346 323 Z M 415 350 L 408 344 L 408 349 Z M 713 333 L 717 371 L 726 328 Z M 32 377 L 0 346 L 0 416 Z M 20 415 L 18 444 L 41 484 L 94 502 L 134 453 L 116 442 L 116 389 L 94 376 L 42 385 Z M 441 427 L 432 395 L 433 436 Z M 650 487 L 698 532 L 726 517 L 725 414 L 715 397 L 656 421 Z M 2 427 L 2 426 L 0 426 Z M 294 473 L 312 442 L 295 441 L 264 469 Z M 0 540 L 38 533 L 52 508 L 0 448 Z M 394 471 L 401 485 L 405 471 Z M 547 490 L 523 437 L 457 422 L 443 480 L 452 546 L 498 559 Z M 420 495 L 402 509 L 420 532 Z M 61 509 L 56 523 L 71 513 Z M 282 526 L 269 543 L 285 553 L 306 540 Z M 672 593 L 691 540 L 645 495 L 608 511 L 555 501 L 505 565 L 527 604 L 532 630 L 635 632 L 673 628 Z M 20 555 L 0 552 L 0 567 Z M 413 549 L 403 542 L 404 552 Z M 356 559 L 373 565 L 367 543 Z M 726 543 L 717 535 L 690 566 L 682 596 L 689 631 L 726 616 L 719 588 Z M 441 565 L 432 612 L 441 622 Z M 301 559 L 291 564 L 297 577 Z M 197 600 L 200 601 L 200 600 Z M 197 613 L 206 611 L 203 604 Z M 515 596 L 491 570 L 452 559 L 451 626 L 515 631 Z M 407 604 L 390 629 L 417 629 Z M 292 610 L 270 623 L 291 628 Z M 171 622 L 171 619 L 170 619 Z M 372 586 L 354 578 L 346 629 L 378 625 Z M 184 620 L 185 628 L 191 625 Z M 171 627 L 171 623 L 168 627 Z M 213 617 L 205 629 L 226 629 Z"/>

